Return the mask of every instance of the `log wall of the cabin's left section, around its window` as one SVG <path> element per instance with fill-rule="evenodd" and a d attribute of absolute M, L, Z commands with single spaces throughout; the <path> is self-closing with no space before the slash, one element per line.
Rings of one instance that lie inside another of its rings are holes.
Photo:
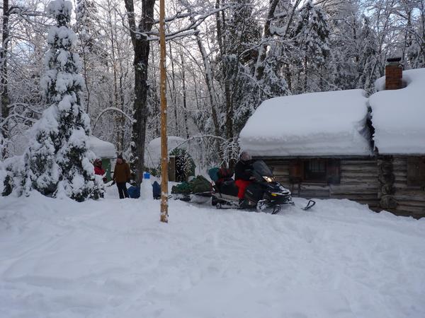
<path fill-rule="evenodd" d="M 375 159 L 341 159 L 340 184 L 289 181 L 289 159 L 264 159 L 273 168 L 278 182 L 290 189 L 293 196 L 306 199 L 351 199 L 378 211 L 378 167 Z"/>

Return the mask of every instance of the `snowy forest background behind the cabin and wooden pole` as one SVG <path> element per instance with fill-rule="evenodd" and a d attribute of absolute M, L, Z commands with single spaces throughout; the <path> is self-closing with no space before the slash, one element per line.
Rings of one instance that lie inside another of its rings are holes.
<path fill-rule="evenodd" d="M 0 160 L 23 153 L 47 108 L 47 4 L 3 0 Z M 73 6 L 92 134 L 142 171 L 145 145 L 160 134 L 158 4 Z M 171 0 L 166 17 L 168 131 L 189 140 L 200 170 L 237 156 L 239 131 L 263 100 L 373 93 L 388 57 L 402 57 L 404 69 L 425 67 L 424 0 Z"/>

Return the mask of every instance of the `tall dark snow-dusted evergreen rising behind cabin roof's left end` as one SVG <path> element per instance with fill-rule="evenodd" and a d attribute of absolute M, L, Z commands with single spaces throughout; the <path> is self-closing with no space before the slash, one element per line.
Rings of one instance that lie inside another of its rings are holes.
<path fill-rule="evenodd" d="M 239 134 L 251 110 L 257 106 L 251 95 L 258 86 L 251 81 L 250 67 L 254 64 L 260 28 L 254 19 L 253 7 L 252 0 L 237 0 L 232 2 L 227 15 L 217 16 L 220 48 L 217 79 L 224 93 L 220 122 L 226 139 Z"/>

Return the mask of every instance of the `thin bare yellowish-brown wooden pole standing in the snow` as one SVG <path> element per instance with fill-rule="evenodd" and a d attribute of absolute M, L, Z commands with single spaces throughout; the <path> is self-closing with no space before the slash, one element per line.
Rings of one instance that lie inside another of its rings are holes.
<path fill-rule="evenodd" d="M 168 223 L 168 146 L 166 136 L 165 0 L 159 0 L 159 69 L 161 71 L 161 222 Z"/>

